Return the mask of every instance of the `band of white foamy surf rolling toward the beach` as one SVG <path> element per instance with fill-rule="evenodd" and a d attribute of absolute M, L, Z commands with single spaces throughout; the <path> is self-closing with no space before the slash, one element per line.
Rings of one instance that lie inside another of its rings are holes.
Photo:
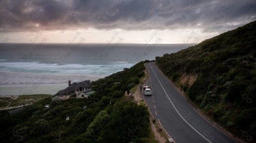
<path fill-rule="evenodd" d="M 95 65 L 81 64 L 45 64 L 35 62 L 6 62 L 0 63 L 2 71 L 20 72 L 20 73 L 70 73 L 70 74 L 87 74 L 108 76 L 123 68 L 130 68 L 134 63 L 129 62 L 112 62 L 106 64 L 97 63 Z"/>

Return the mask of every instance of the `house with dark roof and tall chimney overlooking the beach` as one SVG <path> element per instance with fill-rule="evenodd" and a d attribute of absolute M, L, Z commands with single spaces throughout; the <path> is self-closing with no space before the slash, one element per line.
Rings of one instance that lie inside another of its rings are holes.
<path fill-rule="evenodd" d="M 92 91 L 91 89 L 92 83 L 90 80 L 74 82 L 72 84 L 71 80 L 69 80 L 69 87 L 64 90 L 60 90 L 58 93 L 55 94 L 55 96 L 60 99 L 68 99 L 69 97 L 80 97 L 78 96 L 79 94 L 81 94 L 82 92 L 90 92 Z"/>

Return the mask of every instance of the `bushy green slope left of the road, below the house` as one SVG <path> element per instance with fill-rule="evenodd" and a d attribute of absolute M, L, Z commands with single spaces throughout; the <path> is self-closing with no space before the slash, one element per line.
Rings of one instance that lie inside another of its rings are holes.
<path fill-rule="evenodd" d="M 45 98 L 13 115 L 1 111 L 1 142 L 157 142 L 147 108 L 124 99 L 144 75 L 143 63 L 92 82 L 96 93 L 88 98 Z"/>

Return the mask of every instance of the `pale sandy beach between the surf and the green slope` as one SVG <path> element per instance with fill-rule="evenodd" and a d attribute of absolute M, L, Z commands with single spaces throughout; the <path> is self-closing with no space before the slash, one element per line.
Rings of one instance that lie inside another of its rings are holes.
<path fill-rule="evenodd" d="M 68 81 L 95 81 L 102 76 L 84 74 L 31 74 L 0 72 L 0 95 L 55 94 L 68 87 Z"/>

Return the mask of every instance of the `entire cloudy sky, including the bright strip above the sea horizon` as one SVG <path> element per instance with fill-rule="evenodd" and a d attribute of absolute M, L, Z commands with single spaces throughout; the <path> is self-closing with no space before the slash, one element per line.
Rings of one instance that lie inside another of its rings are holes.
<path fill-rule="evenodd" d="M 2 0 L 0 43 L 200 43 L 255 19 L 255 0 Z"/>

